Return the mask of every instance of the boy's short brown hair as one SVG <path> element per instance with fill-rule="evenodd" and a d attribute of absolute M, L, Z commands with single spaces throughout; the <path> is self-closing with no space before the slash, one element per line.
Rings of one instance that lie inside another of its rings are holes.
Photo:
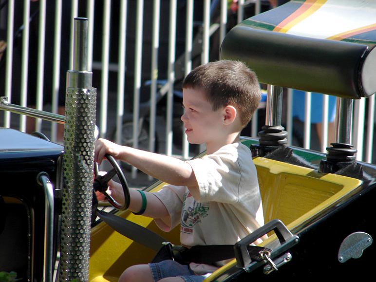
<path fill-rule="evenodd" d="M 261 100 L 257 76 L 240 61 L 220 60 L 192 70 L 183 89 L 202 89 L 213 111 L 233 106 L 240 113 L 242 126 L 251 120 Z"/>

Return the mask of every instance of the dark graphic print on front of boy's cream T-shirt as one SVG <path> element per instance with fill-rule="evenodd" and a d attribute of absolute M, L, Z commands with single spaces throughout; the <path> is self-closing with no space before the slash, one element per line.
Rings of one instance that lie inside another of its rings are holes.
<path fill-rule="evenodd" d="M 197 203 L 189 191 L 185 194 L 183 203 L 181 232 L 192 234 L 193 226 L 207 216 L 209 203 Z"/>

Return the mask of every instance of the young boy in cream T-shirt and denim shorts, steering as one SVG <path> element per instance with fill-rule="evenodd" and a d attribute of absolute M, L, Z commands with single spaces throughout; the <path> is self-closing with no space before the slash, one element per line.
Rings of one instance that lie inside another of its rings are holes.
<path fill-rule="evenodd" d="M 154 218 L 164 231 L 180 223 L 182 245 L 235 244 L 263 225 L 256 168 L 249 148 L 239 142 L 260 99 L 257 77 L 243 63 L 222 60 L 197 67 L 183 82 L 181 119 L 188 142 L 205 143 L 206 156 L 182 161 L 99 139 L 95 161 L 109 153 L 169 183 L 155 193 L 131 190 L 129 209 Z M 118 184 L 110 186 L 121 202 Z M 223 264 L 134 265 L 119 281 L 200 282 Z"/>

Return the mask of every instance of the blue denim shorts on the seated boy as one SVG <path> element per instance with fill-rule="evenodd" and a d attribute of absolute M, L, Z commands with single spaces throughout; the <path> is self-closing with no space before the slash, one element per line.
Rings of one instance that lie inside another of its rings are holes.
<path fill-rule="evenodd" d="M 186 282 L 203 282 L 208 275 L 196 275 L 189 265 L 183 265 L 172 260 L 160 263 L 149 263 L 154 282 L 167 277 L 181 277 Z"/>

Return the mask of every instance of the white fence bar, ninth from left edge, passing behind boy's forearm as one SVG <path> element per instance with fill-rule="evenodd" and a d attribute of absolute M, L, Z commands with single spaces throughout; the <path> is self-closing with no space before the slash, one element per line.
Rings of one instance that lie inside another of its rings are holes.
<path fill-rule="evenodd" d="M 133 86 L 133 148 L 138 148 L 138 132 L 140 119 L 140 91 L 142 75 L 142 37 L 144 0 L 138 0 L 136 6 L 136 44 L 134 56 L 134 86 Z M 132 167 L 132 178 L 135 178 L 137 169 Z"/>

